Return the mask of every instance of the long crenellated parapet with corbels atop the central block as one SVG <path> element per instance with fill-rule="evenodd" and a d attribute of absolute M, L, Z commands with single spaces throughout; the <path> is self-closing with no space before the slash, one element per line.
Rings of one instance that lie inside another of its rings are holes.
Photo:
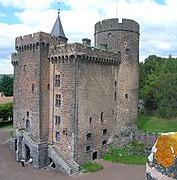
<path fill-rule="evenodd" d="M 84 46 L 80 43 L 51 46 L 48 59 L 52 62 L 73 61 L 118 65 L 121 61 L 120 52 L 111 52 L 95 47 Z"/>

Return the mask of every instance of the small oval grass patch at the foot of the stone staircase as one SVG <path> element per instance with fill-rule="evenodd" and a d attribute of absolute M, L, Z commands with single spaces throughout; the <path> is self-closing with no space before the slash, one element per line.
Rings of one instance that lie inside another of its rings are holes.
<path fill-rule="evenodd" d="M 96 172 L 103 169 L 103 166 L 96 162 L 89 162 L 82 165 L 82 172 Z"/>

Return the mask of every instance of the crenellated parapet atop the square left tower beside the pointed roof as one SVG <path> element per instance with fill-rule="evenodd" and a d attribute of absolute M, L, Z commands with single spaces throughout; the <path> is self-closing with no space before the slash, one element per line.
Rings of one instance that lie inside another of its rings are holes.
<path fill-rule="evenodd" d="M 49 46 L 51 35 L 44 32 L 37 32 L 25 36 L 17 37 L 15 40 L 15 49 L 17 52 L 30 51 Z"/>

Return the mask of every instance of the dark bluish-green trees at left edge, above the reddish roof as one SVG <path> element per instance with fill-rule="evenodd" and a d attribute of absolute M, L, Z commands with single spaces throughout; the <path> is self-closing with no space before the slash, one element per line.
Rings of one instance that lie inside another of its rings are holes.
<path fill-rule="evenodd" d="M 0 92 L 4 92 L 5 96 L 13 96 L 13 76 L 1 75 L 0 78 Z"/>

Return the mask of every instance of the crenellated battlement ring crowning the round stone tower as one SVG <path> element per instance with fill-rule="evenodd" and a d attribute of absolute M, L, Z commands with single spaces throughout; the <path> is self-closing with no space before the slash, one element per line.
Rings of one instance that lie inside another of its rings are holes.
<path fill-rule="evenodd" d="M 130 31 L 139 34 L 139 24 L 131 19 L 106 19 L 95 24 L 95 34 L 104 31 Z"/>

